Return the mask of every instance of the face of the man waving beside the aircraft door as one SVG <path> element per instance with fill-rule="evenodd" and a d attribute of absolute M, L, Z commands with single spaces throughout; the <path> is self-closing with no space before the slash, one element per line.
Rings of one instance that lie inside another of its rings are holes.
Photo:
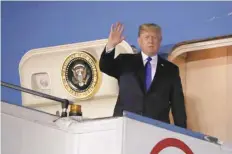
<path fill-rule="evenodd" d="M 161 43 L 161 34 L 157 30 L 142 31 L 138 44 L 141 50 L 148 56 L 154 56 L 157 54 Z"/>

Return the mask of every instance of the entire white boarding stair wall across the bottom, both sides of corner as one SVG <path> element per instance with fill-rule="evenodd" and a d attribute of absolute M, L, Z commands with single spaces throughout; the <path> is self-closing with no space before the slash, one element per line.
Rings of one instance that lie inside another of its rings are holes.
<path fill-rule="evenodd" d="M 170 137 L 182 140 L 193 153 L 229 153 L 219 145 L 126 117 L 78 122 L 11 104 L 2 106 L 4 154 L 147 154 L 158 141 Z M 174 152 L 180 153 L 176 148 L 162 151 Z"/>

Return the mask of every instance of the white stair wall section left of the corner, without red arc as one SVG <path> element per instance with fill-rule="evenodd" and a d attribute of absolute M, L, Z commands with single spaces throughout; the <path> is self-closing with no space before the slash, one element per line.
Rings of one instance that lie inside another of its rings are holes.
<path fill-rule="evenodd" d="M 2 104 L 4 154 L 102 154 L 112 150 L 114 154 L 121 153 L 123 118 L 78 122 Z"/>

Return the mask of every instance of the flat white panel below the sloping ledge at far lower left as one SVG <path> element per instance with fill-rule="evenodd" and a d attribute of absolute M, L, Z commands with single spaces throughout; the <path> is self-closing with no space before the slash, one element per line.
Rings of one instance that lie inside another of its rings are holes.
<path fill-rule="evenodd" d="M 7 114 L 2 114 L 1 118 L 3 154 L 74 154 L 75 152 L 77 146 L 73 146 L 77 140 L 75 135 Z"/>

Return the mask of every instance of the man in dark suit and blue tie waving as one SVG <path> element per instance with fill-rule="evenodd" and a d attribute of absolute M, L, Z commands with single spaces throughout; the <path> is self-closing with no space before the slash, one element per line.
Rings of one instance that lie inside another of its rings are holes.
<path fill-rule="evenodd" d="M 121 116 L 126 110 L 170 123 L 171 108 L 175 125 L 186 128 L 179 68 L 157 54 L 162 40 L 160 26 L 141 25 L 138 44 L 142 51 L 114 58 L 115 47 L 124 40 L 123 30 L 121 23 L 111 26 L 108 43 L 100 58 L 101 71 L 115 77 L 119 83 L 114 116 Z"/>

